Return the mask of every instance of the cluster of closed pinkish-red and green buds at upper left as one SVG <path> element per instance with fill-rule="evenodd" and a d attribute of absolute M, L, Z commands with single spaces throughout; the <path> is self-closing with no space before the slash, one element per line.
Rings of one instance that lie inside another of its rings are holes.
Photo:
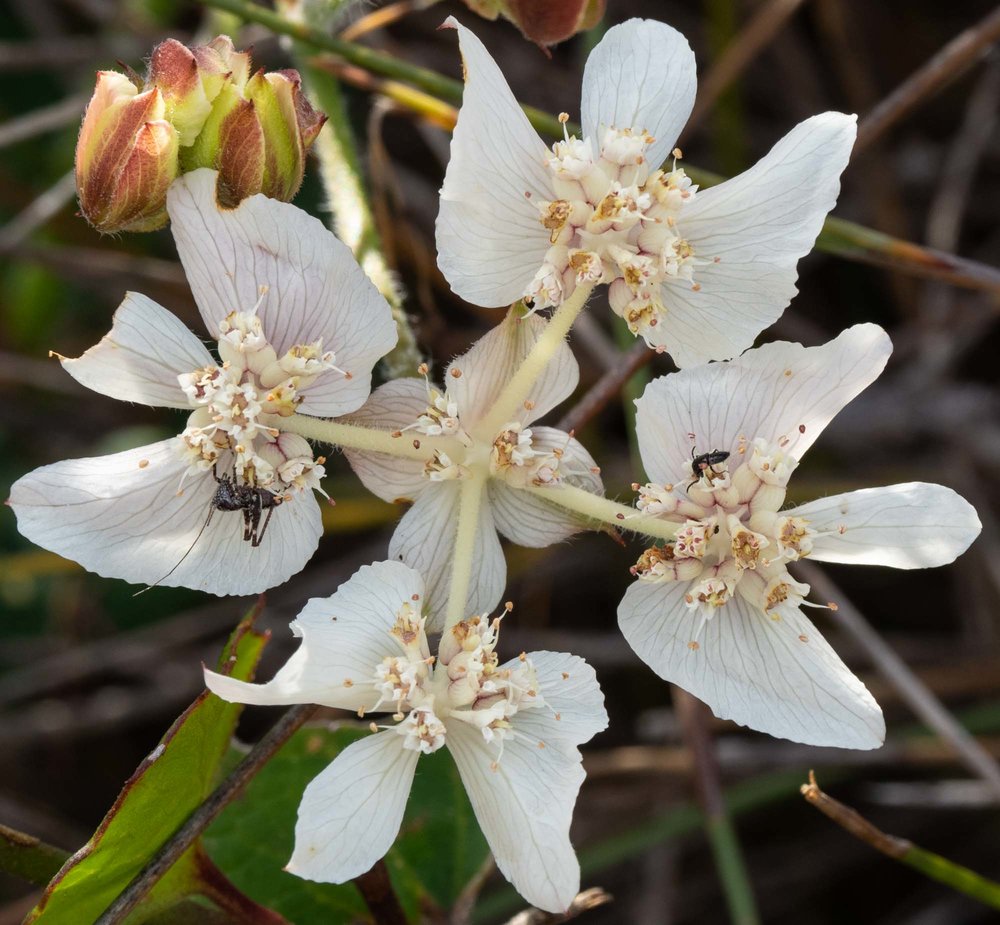
<path fill-rule="evenodd" d="M 98 75 L 77 144 L 80 208 L 98 231 L 151 231 L 167 222 L 166 191 L 179 173 L 219 171 L 219 198 L 254 193 L 289 200 L 326 117 L 295 71 L 259 71 L 227 36 L 187 48 L 158 45 L 145 87 Z"/>

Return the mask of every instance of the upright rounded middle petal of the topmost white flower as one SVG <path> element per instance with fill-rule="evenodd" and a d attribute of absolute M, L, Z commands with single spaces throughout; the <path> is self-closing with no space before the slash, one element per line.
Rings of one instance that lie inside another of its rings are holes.
<path fill-rule="evenodd" d="M 687 39 L 664 23 L 630 19 L 608 29 L 583 70 L 583 137 L 599 142 L 609 126 L 646 130 L 656 139 L 647 152 L 655 170 L 691 115 L 696 70 Z"/>

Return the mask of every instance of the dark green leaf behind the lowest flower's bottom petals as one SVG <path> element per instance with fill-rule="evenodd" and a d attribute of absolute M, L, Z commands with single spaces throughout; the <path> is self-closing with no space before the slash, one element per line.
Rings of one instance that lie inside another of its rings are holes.
<path fill-rule="evenodd" d="M 282 870 L 306 785 L 367 734 L 346 725 L 299 730 L 205 833 L 205 847 L 223 873 L 296 925 L 371 921 L 353 884 L 313 883 Z M 399 837 L 385 859 L 410 920 L 418 921 L 427 906 L 450 907 L 488 851 L 447 749 L 421 756 Z"/>

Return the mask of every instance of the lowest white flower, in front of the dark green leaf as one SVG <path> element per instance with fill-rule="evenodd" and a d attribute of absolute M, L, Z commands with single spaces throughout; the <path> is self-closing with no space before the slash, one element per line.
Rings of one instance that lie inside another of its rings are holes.
<path fill-rule="evenodd" d="M 447 746 L 497 866 L 529 902 L 561 912 L 580 884 L 569 841 L 577 746 L 608 722 L 594 671 L 558 652 L 500 664 L 500 621 L 486 617 L 452 627 L 435 659 L 423 604 L 412 569 L 364 566 L 309 601 L 292 623 L 301 646 L 267 684 L 205 672 L 229 701 L 392 714 L 306 788 L 287 869 L 324 883 L 367 871 L 396 838 L 418 758 Z"/>

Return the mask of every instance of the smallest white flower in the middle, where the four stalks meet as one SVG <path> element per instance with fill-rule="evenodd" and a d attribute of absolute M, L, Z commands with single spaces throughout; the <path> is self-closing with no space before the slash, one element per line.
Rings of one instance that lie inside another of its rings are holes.
<path fill-rule="evenodd" d="M 576 388 L 579 370 L 566 344 L 559 347 L 515 420 L 490 433 L 478 429 L 545 326 L 537 315 L 519 317 L 511 312 L 448 366 L 444 394 L 418 379 L 396 379 L 376 389 L 350 416 L 364 426 L 402 431 L 401 439 L 415 443 L 423 434 L 448 433 L 457 438 L 454 458 L 436 454 L 423 462 L 344 450 L 370 491 L 389 502 L 415 502 L 393 534 L 389 555 L 425 577 L 427 605 L 437 628 L 448 605 L 464 483 L 478 480 L 481 486 L 475 578 L 462 607 L 466 612 L 491 610 L 503 594 L 507 569 L 498 531 L 520 546 L 537 548 L 583 529 L 579 517 L 525 488 L 570 484 L 603 494 L 597 465 L 583 446 L 561 430 L 533 423 Z"/>

